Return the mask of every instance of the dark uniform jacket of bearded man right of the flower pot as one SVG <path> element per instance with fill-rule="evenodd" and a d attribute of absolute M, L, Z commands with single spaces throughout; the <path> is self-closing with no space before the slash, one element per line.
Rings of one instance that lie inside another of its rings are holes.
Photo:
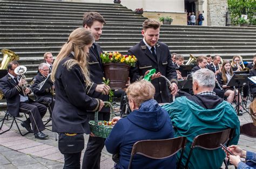
<path fill-rule="evenodd" d="M 144 74 L 147 70 L 156 69 L 156 72 L 160 72 L 172 83 L 177 82 L 176 69 L 172 64 L 171 54 L 166 44 L 158 42 L 156 44 L 157 60 L 153 57 L 151 51 L 144 44 L 144 41 L 140 41 L 139 44 L 129 49 L 129 55 L 135 55 L 138 59 L 135 67 L 130 68 L 131 82 L 144 78 Z M 170 103 L 170 89 L 166 85 L 164 78 L 157 78 L 152 80 L 152 84 L 156 88 L 156 94 L 154 99 L 158 103 Z"/>

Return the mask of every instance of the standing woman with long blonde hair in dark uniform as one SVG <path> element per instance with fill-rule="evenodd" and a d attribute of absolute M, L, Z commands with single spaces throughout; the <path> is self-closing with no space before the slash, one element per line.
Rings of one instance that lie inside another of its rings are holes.
<path fill-rule="evenodd" d="M 90 31 L 74 30 L 53 64 L 56 102 L 52 111 L 52 131 L 59 133 L 58 147 L 64 154 L 64 168 L 80 168 L 84 149 L 83 133 L 90 134 L 87 111 L 99 111 L 104 103 L 87 94 L 95 87 L 87 69 L 87 53 L 93 43 Z"/>

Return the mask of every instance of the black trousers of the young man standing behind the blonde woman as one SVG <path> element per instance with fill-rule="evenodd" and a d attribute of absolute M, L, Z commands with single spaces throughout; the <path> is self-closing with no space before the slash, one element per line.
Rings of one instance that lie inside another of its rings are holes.
<path fill-rule="evenodd" d="M 94 112 L 89 114 L 89 119 L 94 120 Z M 99 112 L 99 121 L 109 121 L 109 112 Z M 104 147 L 105 139 L 102 137 L 91 137 L 87 143 L 86 150 L 83 158 L 83 169 L 97 169 L 100 168 L 100 156 L 102 155 L 102 149 Z"/>

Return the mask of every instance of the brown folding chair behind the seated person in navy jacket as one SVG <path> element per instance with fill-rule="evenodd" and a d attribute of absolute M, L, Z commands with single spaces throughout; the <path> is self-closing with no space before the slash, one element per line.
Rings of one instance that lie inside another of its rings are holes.
<path fill-rule="evenodd" d="M 183 151 L 186 145 L 186 137 L 177 137 L 170 139 L 159 139 L 159 140 L 142 140 L 134 143 L 131 152 L 131 158 L 129 167 L 132 166 L 132 160 L 135 154 L 152 158 L 152 159 L 164 159 L 169 158 L 176 154 L 179 150 L 181 151 L 178 167 L 180 166 L 181 159 L 183 157 Z"/>

